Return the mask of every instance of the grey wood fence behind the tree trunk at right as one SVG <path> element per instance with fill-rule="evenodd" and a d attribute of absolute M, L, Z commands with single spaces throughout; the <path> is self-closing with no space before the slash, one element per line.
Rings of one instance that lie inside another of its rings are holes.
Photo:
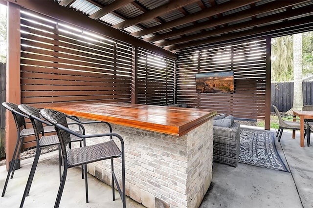
<path fill-rule="evenodd" d="M 303 105 L 313 105 L 313 82 L 303 82 Z M 271 83 L 271 105 L 286 112 L 293 104 L 293 83 Z M 272 107 L 272 112 L 274 109 Z"/>

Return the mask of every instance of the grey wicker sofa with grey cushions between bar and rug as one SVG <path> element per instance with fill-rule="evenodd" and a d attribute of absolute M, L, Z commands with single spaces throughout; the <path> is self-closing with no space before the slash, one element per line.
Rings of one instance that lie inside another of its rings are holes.
<path fill-rule="evenodd" d="M 231 127 L 213 126 L 213 161 L 238 165 L 240 150 L 240 123 L 234 122 Z"/>

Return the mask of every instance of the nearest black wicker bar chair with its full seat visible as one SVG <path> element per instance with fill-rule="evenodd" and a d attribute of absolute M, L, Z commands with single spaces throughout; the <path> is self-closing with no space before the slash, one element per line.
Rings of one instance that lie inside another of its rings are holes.
<path fill-rule="evenodd" d="M 120 194 L 123 208 L 126 208 L 126 195 L 125 195 L 125 159 L 124 159 L 124 141 L 122 137 L 116 133 L 101 133 L 101 134 L 90 134 L 90 135 L 82 135 L 78 134 L 75 131 L 72 131 L 68 128 L 66 114 L 52 110 L 52 109 L 42 109 L 42 116 L 49 121 L 51 124 L 55 126 L 55 130 L 57 132 L 62 157 L 64 161 L 64 170 L 62 174 L 62 179 L 59 187 L 59 191 L 57 194 L 57 198 L 55 201 L 54 208 L 58 208 L 60 205 L 66 177 L 67 177 L 67 169 L 70 167 L 81 166 L 84 165 L 85 171 L 85 186 L 86 186 L 86 203 L 88 200 L 88 180 L 87 180 L 87 164 L 111 159 L 111 172 L 112 172 L 112 198 L 115 200 L 114 195 L 114 182 L 116 184 L 117 190 Z M 70 135 L 75 135 L 81 138 L 94 138 L 94 137 L 110 137 L 109 141 L 103 142 L 100 144 L 83 146 L 79 148 L 69 149 L 67 145 L 70 143 Z M 121 149 L 118 148 L 113 138 L 117 138 L 120 143 Z M 114 172 L 114 158 L 121 158 L 122 165 L 122 187 L 119 186 L 117 178 Z M 122 188 L 122 189 L 121 189 Z"/>

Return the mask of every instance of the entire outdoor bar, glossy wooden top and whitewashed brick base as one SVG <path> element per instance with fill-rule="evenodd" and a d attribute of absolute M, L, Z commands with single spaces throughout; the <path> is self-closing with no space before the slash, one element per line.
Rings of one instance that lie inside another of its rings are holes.
<path fill-rule="evenodd" d="M 216 111 L 103 102 L 49 108 L 112 125 L 113 132 L 124 139 L 126 195 L 135 201 L 148 208 L 200 206 L 212 180 Z M 87 134 L 108 131 L 104 123 L 86 125 Z M 91 145 L 104 139 L 86 142 Z M 120 161 L 116 164 L 119 178 Z M 110 168 L 110 161 L 100 161 L 89 164 L 88 171 L 111 184 Z"/>

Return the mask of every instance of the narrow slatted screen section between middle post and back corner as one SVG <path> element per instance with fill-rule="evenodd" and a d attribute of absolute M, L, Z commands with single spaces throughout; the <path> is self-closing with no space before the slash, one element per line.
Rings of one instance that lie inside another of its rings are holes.
<path fill-rule="evenodd" d="M 138 49 L 138 104 L 173 104 L 175 62 Z"/>

